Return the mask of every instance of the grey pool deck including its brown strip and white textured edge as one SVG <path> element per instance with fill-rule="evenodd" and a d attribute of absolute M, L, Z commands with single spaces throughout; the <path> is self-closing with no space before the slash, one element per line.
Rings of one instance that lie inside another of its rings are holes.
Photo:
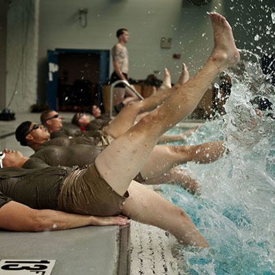
<path fill-rule="evenodd" d="M 61 115 L 63 121 L 69 122 L 73 113 L 62 112 Z M 21 151 L 25 156 L 32 155 L 34 152 L 31 148 L 21 146 L 17 142 L 14 131 L 23 121 L 39 122 L 39 116 L 40 113 L 17 113 L 16 120 L 0 120 L 0 150 L 10 148 Z M 179 126 L 192 128 L 201 123 L 203 122 L 184 121 L 180 122 Z M 151 235 L 150 227 L 140 227 L 141 225 L 133 222 L 132 224 L 133 230 L 131 225 L 89 226 L 36 233 L 0 230 L 0 262 L 4 259 L 55 260 L 52 275 L 179 274 L 170 250 L 165 250 L 168 234 L 154 229 Z M 145 229 L 148 231 L 146 237 L 152 236 L 147 241 L 144 236 Z M 133 265 L 131 272 L 130 265 Z M 147 273 L 146 270 L 150 272 Z M 0 275 L 4 274 L 1 272 L 0 269 Z"/>

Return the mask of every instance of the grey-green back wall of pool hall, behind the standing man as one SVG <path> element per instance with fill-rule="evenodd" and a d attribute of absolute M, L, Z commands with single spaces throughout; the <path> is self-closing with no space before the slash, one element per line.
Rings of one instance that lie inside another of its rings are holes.
<path fill-rule="evenodd" d="M 78 22 L 79 8 L 88 9 L 86 28 Z M 160 71 L 162 78 L 167 67 L 175 82 L 182 62 L 192 75 L 212 49 L 206 12 L 214 10 L 225 14 L 231 23 L 239 48 L 274 52 L 274 0 L 212 0 L 202 7 L 188 0 L 12 0 L 8 12 L 7 97 L 17 87 L 14 109 L 27 110 L 37 100 L 43 102 L 48 49 L 110 49 L 117 41 L 118 28 L 130 32 L 127 47 L 132 78 L 146 78 L 155 71 Z M 172 39 L 171 49 L 160 48 L 162 37 Z M 174 53 L 181 54 L 181 59 L 173 59 Z"/>

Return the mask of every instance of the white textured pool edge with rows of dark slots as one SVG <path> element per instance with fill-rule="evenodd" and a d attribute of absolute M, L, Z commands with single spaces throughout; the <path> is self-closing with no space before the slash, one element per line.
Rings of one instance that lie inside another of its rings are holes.
<path fill-rule="evenodd" d="M 131 221 L 131 275 L 183 275 L 175 252 L 181 247 L 174 236 L 159 228 Z M 178 253 L 180 255 L 180 253 Z"/>

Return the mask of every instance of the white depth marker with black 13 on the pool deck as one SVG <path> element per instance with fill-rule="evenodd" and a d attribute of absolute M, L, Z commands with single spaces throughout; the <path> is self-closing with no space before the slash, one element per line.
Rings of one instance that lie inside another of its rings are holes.
<path fill-rule="evenodd" d="M 50 275 L 55 260 L 1 260 L 0 275 Z"/>

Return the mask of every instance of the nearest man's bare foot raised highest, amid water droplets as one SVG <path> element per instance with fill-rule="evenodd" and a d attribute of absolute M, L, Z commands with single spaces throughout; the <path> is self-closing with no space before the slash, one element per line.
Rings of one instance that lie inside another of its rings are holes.
<path fill-rule="evenodd" d="M 217 12 L 209 13 L 214 31 L 214 49 L 210 60 L 217 62 L 219 71 L 237 63 L 240 54 L 234 43 L 232 29 L 226 19 Z"/>

